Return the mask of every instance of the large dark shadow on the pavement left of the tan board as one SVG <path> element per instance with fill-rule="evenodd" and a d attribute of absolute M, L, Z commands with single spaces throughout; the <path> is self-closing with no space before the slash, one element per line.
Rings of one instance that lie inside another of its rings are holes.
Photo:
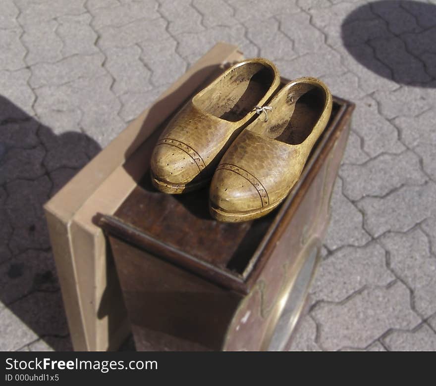
<path fill-rule="evenodd" d="M 99 150 L 87 135 L 56 134 L 0 96 L 2 351 L 38 337 L 55 350 L 72 349 L 43 204 Z"/>

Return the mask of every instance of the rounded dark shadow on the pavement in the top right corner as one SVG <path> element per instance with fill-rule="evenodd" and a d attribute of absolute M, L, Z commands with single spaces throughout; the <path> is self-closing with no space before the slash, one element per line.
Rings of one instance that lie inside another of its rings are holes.
<path fill-rule="evenodd" d="M 345 18 L 341 33 L 350 54 L 376 74 L 399 84 L 436 87 L 436 5 L 371 2 Z"/>

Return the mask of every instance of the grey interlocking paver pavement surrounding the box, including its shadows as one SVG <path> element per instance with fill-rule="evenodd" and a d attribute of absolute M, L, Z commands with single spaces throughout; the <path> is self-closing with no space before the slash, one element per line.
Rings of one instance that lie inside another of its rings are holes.
<path fill-rule="evenodd" d="M 0 349 L 68 350 L 42 204 L 217 41 L 356 102 L 292 350 L 436 350 L 436 2 L 2 0 Z"/>

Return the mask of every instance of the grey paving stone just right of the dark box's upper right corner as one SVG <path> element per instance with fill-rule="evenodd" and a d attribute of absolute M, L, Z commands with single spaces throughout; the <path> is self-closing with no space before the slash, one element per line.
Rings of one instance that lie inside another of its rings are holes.
<path fill-rule="evenodd" d="M 405 150 L 398 140 L 396 128 L 379 114 L 377 102 L 371 97 L 364 97 L 356 103 L 351 127 L 363 138 L 363 148 L 371 157 Z"/>

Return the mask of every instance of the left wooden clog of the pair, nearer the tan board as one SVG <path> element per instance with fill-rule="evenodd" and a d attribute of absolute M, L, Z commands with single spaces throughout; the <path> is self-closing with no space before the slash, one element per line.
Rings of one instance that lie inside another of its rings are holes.
<path fill-rule="evenodd" d="M 256 106 L 271 99 L 280 84 L 272 62 L 238 63 L 196 94 L 170 121 L 151 159 L 153 185 L 184 193 L 209 182 L 225 150 L 256 117 Z"/>

